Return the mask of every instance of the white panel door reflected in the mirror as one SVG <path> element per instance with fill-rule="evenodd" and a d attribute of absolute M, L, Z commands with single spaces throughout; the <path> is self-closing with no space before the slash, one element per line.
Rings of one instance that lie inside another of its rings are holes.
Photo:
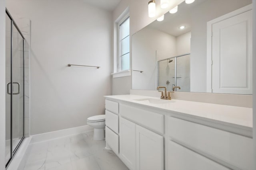
<path fill-rule="evenodd" d="M 252 94 L 252 10 L 212 24 L 212 92 Z"/>

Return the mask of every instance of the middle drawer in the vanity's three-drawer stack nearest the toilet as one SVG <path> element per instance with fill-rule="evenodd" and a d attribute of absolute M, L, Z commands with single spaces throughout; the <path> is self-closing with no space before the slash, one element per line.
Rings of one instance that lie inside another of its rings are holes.
<path fill-rule="evenodd" d="M 118 115 L 110 112 L 105 111 L 106 115 L 106 126 L 108 126 L 112 131 L 118 134 Z"/>

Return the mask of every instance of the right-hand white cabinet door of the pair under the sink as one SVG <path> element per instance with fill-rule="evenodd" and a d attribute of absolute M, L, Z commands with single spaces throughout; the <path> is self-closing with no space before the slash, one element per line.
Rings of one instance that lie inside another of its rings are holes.
<path fill-rule="evenodd" d="M 164 137 L 136 125 L 136 170 L 164 170 Z"/>

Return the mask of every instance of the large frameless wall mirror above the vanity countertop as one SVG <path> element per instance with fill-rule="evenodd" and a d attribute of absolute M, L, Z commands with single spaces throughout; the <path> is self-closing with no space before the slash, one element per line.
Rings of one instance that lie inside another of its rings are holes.
<path fill-rule="evenodd" d="M 132 35 L 132 70 L 132 89 L 252 94 L 252 0 L 182 2 Z"/>

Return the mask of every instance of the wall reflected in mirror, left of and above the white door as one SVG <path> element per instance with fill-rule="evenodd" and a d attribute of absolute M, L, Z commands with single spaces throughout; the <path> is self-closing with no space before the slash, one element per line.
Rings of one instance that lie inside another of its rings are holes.
<path fill-rule="evenodd" d="M 190 65 L 192 92 L 206 92 L 206 22 L 251 3 L 252 0 L 208 0 L 194 8 L 191 14 L 193 23 Z"/>

